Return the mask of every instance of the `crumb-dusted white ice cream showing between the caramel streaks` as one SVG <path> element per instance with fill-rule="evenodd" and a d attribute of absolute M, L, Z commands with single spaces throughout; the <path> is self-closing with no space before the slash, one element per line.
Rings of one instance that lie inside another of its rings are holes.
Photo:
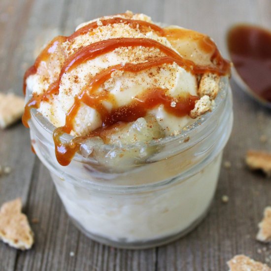
<path fill-rule="evenodd" d="M 150 18 L 143 14 L 128 12 L 126 14 L 115 16 L 151 22 Z M 114 16 L 103 17 L 101 19 L 112 17 Z M 100 19 L 97 20 L 99 24 Z M 78 28 L 85 24 L 80 25 Z M 41 62 L 37 73 L 29 76 L 27 79 L 28 90 L 37 94 L 46 91 L 49 84 L 57 78 L 64 56 L 70 56 L 81 46 L 87 46 L 97 41 L 117 37 L 150 38 L 175 50 L 166 37 L 160 37 L 153 31 L 144 33 L 140 31 L 139 28 L 134 29 L 124 23 L 99 26 L 97 29 L 93 30 L 91 35 L 83 34 L 77 36 L 74 40 L 66 41 L 53 48 L 52 51 L 55 52 L 55 55 L 52 55 L 48 62 Z M 61 78 L 59 95 L 54 96 L 50 102 L 41 102 L 38 111 L 48 118 L 56 127 L 64 126 L 66 114 L 74 102 L 74 97 L 80 94 L 83 87 L 85 87 L 97 73 L 113 65 L 142 63 L 147 62 L 153 57 L 161 56 L 164 56 L 164 53 L 161 53 L 158 49 L 136 46 L 130 48 L 117 48 L 112 52 L 89 60 L 71 71 L 64 73 Z M 122 106 L 129 104 L 144 90 L 154 87 L 167 89 L 167 94 L 172 98 L 178 98 L 187 93 L 197 95 L 198 88 L 196 77 L 184 68 L 173 63 L 172 65 L 163 65 L 160 68 L 155 67 L 137 73 L 114 72 L 112 73 L 111 78 L 101 86 L 99 92 L 109 92 L 114 97 L 115 106 Z M 110 102 L 106 102 L 104 105 L 106 105 L 106 108 L 109 111 L 113 106 Z M 156 116 L 165 135 L 180 131 L 185 125 L 192 121 L 189 116 L 172 116 L 164 110 L 163 106 L 150 110 L 149 114 Z M 95 109 L 82 103 L 74 119 L 72 134 L 84 135 L 101 127 L 101 125 L 102 121 L 100 114 Z"/>

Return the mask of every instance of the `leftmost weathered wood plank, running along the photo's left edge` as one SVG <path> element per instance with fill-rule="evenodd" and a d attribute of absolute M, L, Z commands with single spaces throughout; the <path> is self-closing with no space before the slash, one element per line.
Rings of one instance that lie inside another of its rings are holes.
<path fill-rule="evenodd" d="M 22 42 L 31 5 L 32 0 L 3 0 L 0 3 L 0 92 L 12 91 L 21 94 L 18 67 L 22 62 L 22 55 L 15 58 L 14 51 Z M 15 65 L 14 69 L 10 68 L 12 64 Z M 0 204 L 16 197 L 21 197 L 23 203 L 27 201 L 34 166 L 34 155 L 29 141 L 29 132 L 22 124 L 0 131 L 0 165 L 12 168 L 9 175 L 0 176 Z M 13 270 L 16 254 L 15 249 L 1 243 L 0 270 Z"/>

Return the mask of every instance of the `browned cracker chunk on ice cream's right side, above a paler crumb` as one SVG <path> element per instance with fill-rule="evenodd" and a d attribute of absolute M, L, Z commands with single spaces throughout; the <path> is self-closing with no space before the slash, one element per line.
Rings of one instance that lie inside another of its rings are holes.
<path fill-rule="evenodd" d="M 219 75 L 214 73 L 204 73 L 198 90 L 200 97 L 207 95 L 210 100 L 214 100 L 219 91 L 219 81 Z"/>

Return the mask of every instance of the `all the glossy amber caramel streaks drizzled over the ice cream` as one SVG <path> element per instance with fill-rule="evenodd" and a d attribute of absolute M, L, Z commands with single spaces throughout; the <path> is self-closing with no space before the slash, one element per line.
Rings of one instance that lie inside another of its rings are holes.
<path fill-rule="evenodd" d="M 161 36 L 170 36 L 171 38 L 175 38 L 177 35 L 180 34 L 178 31 L 174 34 L 173 32 L 169 32 L 169 30 L 164 30 L 156 25 L 140 20 L 116 17 L 107 20 L 101 20 L 101 23 L 103 26 L 115 23 L 125 23 L 129 24 L 133 28 L 139 28 L 141 31 L 150 28 Z M 79 35 L 90 33 L 97 27 L 98 23 L 92 22 L 80 28 L 68 37 L 58 36 L 53 39 L 37 57 L 34 65 L 26 71 L 23 86 L 24 93 L 26 91 L 26 80 L 28 76 L 37 72 L 37 68 L 41 61 L 48 61 L 50 55 L 54 52 L 54 49 L 56 48 L 58 43 L 65 42 L 67 40 L 71 41 Z M 211 49 L 210 40 L 207 39 L 206 42 L 203 41 L 203 45 L 205 46 L 206 50 Z M 38 108 L 40 102 L 49 101 L 53 95 L 57 95 L 59 93 L 62 75 L 85 63 L 86 61 L 94 59 L 102 54 L 111 52 L 119 47 L 154 47 L 163 52 L 166 55 L 165 57 L 159 57 L 146 63 L 127 63 L 125 65 L 116 65 L 102 70 L 90 80 L 88 87 L 84 88 L 81 91 L 81 94 L 75 97 L 74 103 L 66 116 L 65 126 L 57 128 L 53 134 L 57 160 L 62 166 L 67 166 L 75 153 L 79 150 L 83 138 L 99 135 L 105 140 L 106 133 L 104 131 L 106 131 L 108 127 L 112 127 L 113 125 L 118 125 L 120 123 L 131 122 L 139 117 L 144 117 L 149 109 L 154 108 L 159 104 L 163 104 L 165 110 L 167 110 L 171 114 L 174 114 L 176 116 L 186 115 L 194 108 L 195 102 L 199 99 L 197 96 L 183 96 L 178 98 L 177 101 L 174 100 L 174 102 L 176 102 L 176 106 L 171 107 L 170 103 L 173 101 L 173 99 L 166 95 L 166 90 L 162 88 L 154 88 L 145 91 L 140 97 L 136 97 L 130 104 L 121 107 L 115 106 L 113 107 L 111 112 L 108 112 L 108 110 L 102 105 L 102 102 L 110 101 L 114 104 L 114 99 L 110 94 L 101 94 L 97 92 L 97 89 L 101 86 L 102 83 L 104 83 L 110 78 L 113 71 L 123 70 L 126 72 L 139 72 L 144 69 L 161 66 L 163 64 L 172 64 L 173 62 L 175 62 L 177 65 L 185 68 L 186 70 L 194 74 L 201 74 L 206 71 L 217 73 L 219 75 L 227 74 L 230 69 L 229 63 L 221 57 L 218 49 L 213 42 L 212 45 L 214 51 L 212 55 L 212 61 L 214 61 L 215 64 L 209 66 L 200 66 L 196 65 L 190 60 L 183 59 L 174 50 L 153 39 L 112 38 L 92 43 L 88 46 L 78 49 L 74 54 L 68 57 L 61 68 L 58 79 L 49 86 L 46 92 L 41 95 L 34 95 L 33 98 L 26 104 L 25 112 L 22 118 L 23 123 L 26 127 L 29 127 L 28 120 L 31 117 L 30 110 L 32 108 Z M 102 127 L 93 131 L 90 135 L 84 137 L 75 137 L 69 143 L 64 144 L 60 140 L 60 136 L 64 133 L 71 132 L 73 128 L 72 123 L 80 108 L 81 102 L 96 109 L 100 113 L 102 118 Z"/>

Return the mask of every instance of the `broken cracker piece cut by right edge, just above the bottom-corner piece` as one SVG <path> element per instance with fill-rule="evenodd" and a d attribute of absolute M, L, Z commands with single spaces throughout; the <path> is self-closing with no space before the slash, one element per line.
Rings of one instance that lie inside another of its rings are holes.
<path fill-rule="evenodd" d="M 262 242 L 271 242 L 271 206 L 264 210 L 264 218 L 259 223 L 259 232 L 256 239 Z"/>

